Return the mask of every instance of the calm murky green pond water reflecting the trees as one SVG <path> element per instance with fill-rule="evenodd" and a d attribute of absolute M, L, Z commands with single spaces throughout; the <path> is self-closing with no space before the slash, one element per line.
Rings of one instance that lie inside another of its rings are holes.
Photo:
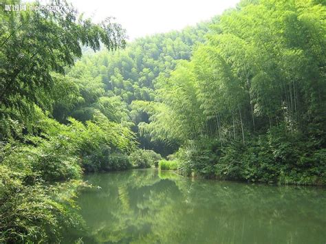
<path fill-rule="evenodd" d="M 158 170 L 87 175 L 85 243 L 326 243 L 325 188 L 178 177 Z"/>

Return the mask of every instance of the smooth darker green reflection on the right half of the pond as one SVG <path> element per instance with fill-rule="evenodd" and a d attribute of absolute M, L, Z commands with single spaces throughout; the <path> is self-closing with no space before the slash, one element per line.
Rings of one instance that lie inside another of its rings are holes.
<path fill-rule="evenodd" d="M 182 181 L 181 181 L 182 182 Z M 180 186 L 192 214 L 191 240 L 215 243 L 323 243 L 325 189 L 195 181 Z M 191 189 L 191 190 L 188 190 Z M 198 232 L 196 230 L 204 230 Z M 314 241 L 313 241 L 314 240 Z"/>

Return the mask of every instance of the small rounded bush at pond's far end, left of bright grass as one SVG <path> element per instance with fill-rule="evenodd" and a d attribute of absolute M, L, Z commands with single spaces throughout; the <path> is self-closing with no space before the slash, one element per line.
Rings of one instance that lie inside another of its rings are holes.
<path fill-rule="evenodd" d="M 138 149 L 130 154 L 129 159 L 134 168 L 149 168 L 155 166 L 162 157 L 153 150 Z"/>

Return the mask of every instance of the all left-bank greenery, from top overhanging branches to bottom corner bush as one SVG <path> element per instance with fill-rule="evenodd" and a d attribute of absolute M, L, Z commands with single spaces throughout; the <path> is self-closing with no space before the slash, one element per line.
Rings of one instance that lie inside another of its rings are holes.
<path fill-rule="evenodd" d="M 103 98 L 100 77 L 69 69 L 82 45 L 124 47 L 124 31 L 77 16 L 66 1 L 49 4 L 63 8 L 0 8 L 0 243 L 60 243 L 64 232 L 81 230 L 76 179 L 129 168 L 135 148 L 121 98 Z"/>

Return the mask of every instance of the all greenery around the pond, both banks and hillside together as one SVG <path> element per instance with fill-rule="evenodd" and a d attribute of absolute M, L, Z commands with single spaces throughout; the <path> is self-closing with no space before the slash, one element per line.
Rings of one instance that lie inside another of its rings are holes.
<path fill-rule="evenodd" d="M 85 173 L 326 185 L 323 1 L 243 0 L 131 43 L 55 3 L 0 8 L 0 243 L 85 231 Z"/>

